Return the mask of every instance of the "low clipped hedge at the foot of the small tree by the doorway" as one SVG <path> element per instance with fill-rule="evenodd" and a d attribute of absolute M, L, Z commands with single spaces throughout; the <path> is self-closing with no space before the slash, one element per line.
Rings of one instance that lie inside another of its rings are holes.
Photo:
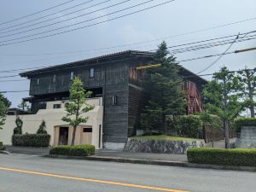
<path fill-rule="evenodd" d="M 49 154 L 70 155 L 70 156 L 90 156 L 95 154 L 94 145 L 60 145 L 49 150 Z"/>

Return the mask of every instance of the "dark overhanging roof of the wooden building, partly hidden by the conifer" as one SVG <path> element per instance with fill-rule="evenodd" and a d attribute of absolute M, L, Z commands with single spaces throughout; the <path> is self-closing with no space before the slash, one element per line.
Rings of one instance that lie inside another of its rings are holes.
<path fill-rule="evenodd" d="M 24 73 L 20 73 L 21 77 L 26 77 L 26 78 L 31 78 L 32 76 L 38 75 L 40 73 L 46 73 L 46 72 L 52 72 L 52 71 L 57 71 L 57 70 L 63 70 L 63 69 L 69 69 L 73 67 L 84 67 L 86 65 L 92 65 L 92 64 L 102 64 L 106 63 L 109 61 L 115 61 L 115 60 L 120 60 L 125 58 L 135 58 L 135 57 L 146 57 L 148 59 L 151 59 L 154 57 L 154 52 L 150 51 L 139 51 L 139 50 L 125 50 L 113 54 L 108 54 L 108 55 L 101 55 L 101 56 L 96 56 L 92 57 L 89 59 L 84 59 L 80 61 L 73 61 L 61 65 L 55 65 L 52 67 L 44 67 L 41 69 L 37 70 L 32 70 Z M 202 79 L 200 76 L 196 75 L 195 73 L 192 73 L 188 69 L 181 67 L 179 74 L 183 76 L 184 79 L 189 79 L 194 81 L 195 83 L 199 84 L 206 84 L 207 80 Z"/>

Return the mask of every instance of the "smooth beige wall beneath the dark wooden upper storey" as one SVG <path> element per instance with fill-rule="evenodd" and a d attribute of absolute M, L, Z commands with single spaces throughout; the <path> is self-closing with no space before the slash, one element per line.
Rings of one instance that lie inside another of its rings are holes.
<path fill-rule="evenodd" d="M 66 101 L 67 102 L 67 101 Z M 61 107 L 58 109 L 53 109 L 53 104 L 60 104 L 62 103 Z M 92 98 L 88 99 L 88 104 L 94 105 L 95 108 L 90 112 L 86 113 L 89 116 L 89 120 L 86 124 L 92 127 L 92 138 L 91 143 L 99 147 L 99 126 L 102 126 L 102 117 L 103 117 L 103 107 L 102 107 L 102 98 Z M 64 102 L 55 101 L 47 103 L 47 109 L 41 109 L 38 111 L 37 114 L 27 114 L 27 115 L 20 115 L 20 119 L 23 120 L 22 131 L 23 133 L 36 133 L 38 131 L 38 126 L 41 124 L 42 120 L 44 119 L 46 122 L 46 131 L 51 135 L 50 138 L 50 145 L 54 145 L 55 141 L 55 126 L 63 125 L 68 126 L 67 122 L 61 120 L 63 116 L 65 116 L 65 108 Z M 3 130 L 0 130 L 0 141 L 4 144 L 10 145 L 11 144 L 11 137 L 13 135 L 13 131 L 15 128 L 15 115 L 9 115 L 5 121 L 5 125 L 3 125 Z M 72 131 L 72 129 L 70 129 Z M 81 131 L 81 129 L 78 129 Z M 81 133 L 77 134 L 77 141 L 80 141 Z M 79 136 L 78 136 L 79 135 Z M 71 136 L 71 135 L 70 135 Z M 102 133 L 101 133 L 102 138 Z M 71 139 L 71 138 L 70 138 Z M 76 141 L 76 142 L 77 142 Z M 102 141 L 101 141 L 102 146 Z"/>

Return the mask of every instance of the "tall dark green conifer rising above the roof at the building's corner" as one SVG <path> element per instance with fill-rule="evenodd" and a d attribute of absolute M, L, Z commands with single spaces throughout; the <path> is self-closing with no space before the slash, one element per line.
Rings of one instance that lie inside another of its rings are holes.
<path fill-rule="evenodd" d="M 148 91 L 148 103 L 143 109 L 142 122 L 152 128 L 164 128 L 167 115 L 185 113 L 186 99 L 181 90 L 182 79 L 179 78 L 176 58 L 169 55 L 166 42 L 159 45 L 154 55 L 154 63 L 161 67 L 148 68 L 144 78 L 144 87 Z"/>

